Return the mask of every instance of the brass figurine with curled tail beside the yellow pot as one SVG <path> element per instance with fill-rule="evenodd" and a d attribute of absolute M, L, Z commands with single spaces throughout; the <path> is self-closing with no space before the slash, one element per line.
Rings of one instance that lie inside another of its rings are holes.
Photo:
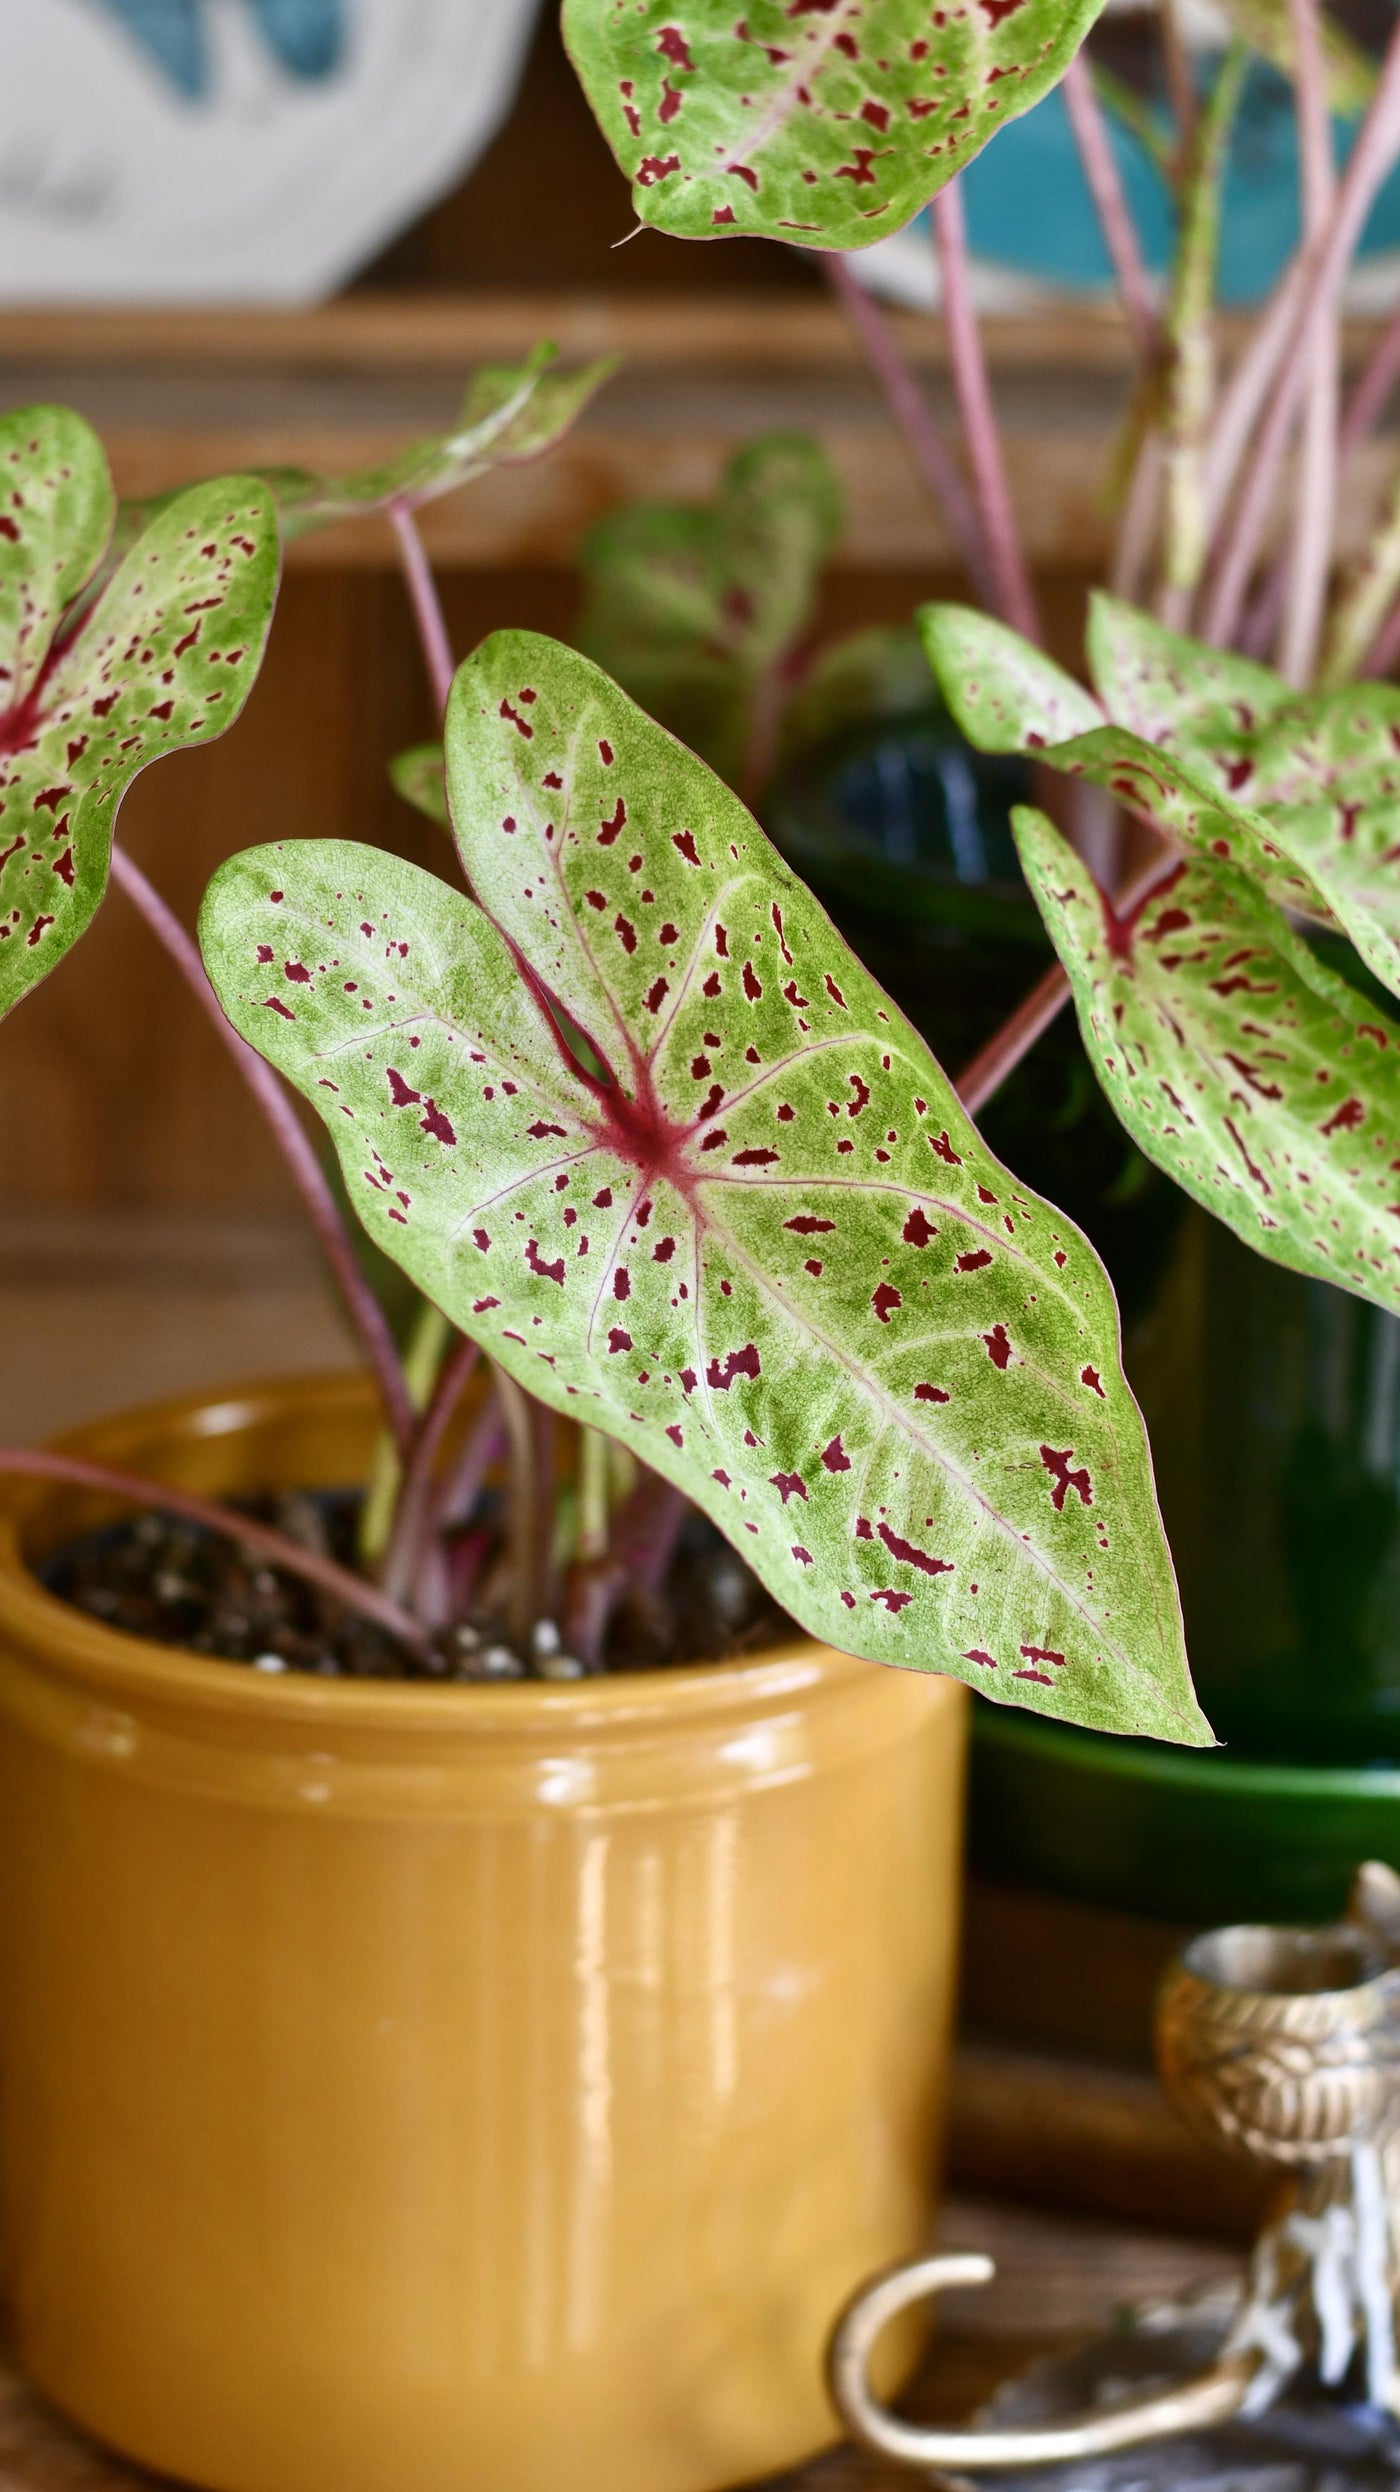
<path fill-rule="evenodd" d="M 1338 2472 L 1328 2460 L 1320 2475 L 1288 2475 L 1288 2485 L 1400 2485 L 1400 2437 L 1393 2432 L 1393 2417 L 1400 2420 L 1395 1871 L 1368 1862 L 1348 1916 L 1330 1929 L 1236 1926 L 1193 1939 L 1158 1994 L 1156 2058 L 1166 2093 L 1193 2128 L 1280 2173 L 1280 2198 L 1233 2308 L 1141 2313 L 1138 2392 L 1123 2382 L 1114 2340 L 1101 2350 L 1099 2372 L 1089 2365 L 1089 2407 L 1046 2415 L 1044 2392 L 1026 2397 L 1021 2390 L 1031 2382 L 1016 2382 L 994 2400 L 986 2427 L 942 2430 L 907 2422 L 877 2400 L 869 2352 L 909 2303 L 986 2283 L 994 2268 L 979 2255 L 919 2258 L 864 2285 L 837 2323 L 830 2382 L 840 2415 L 857 2440 L 887 2457 L 969 2477 L 1106 2460 L 1265 2415 L 1283 2430 L 1285 2410 L 1313 2397 L 1303 2445 L 1320 2450 L 1328 2440 L 1330 2400 L 1338 2417 L 1363 2417 L 1343 2420 L 1340 2442 L 1340 2455 L 1360 2455 L 1363 2470 Z M 1213 2337 L 1211 2357 L 1173 2375 L 1153 2352 L 1173 2330 L 1178 2345 Z M 1074 2365 L 1066 2370 L 1074 2377 Z M 1280 2482 L 1278 2467 L 1265 2475 Z M 1101 2470 L 1074 2477 L 1094 2482 L 1096 2492 L 1114 2480 Z M 1206 2482 L 1206 2475 L 1156 2480 Z M 1248 2467 L 1228 2475 L 1231 2487 L 1251 2480 Z"/>

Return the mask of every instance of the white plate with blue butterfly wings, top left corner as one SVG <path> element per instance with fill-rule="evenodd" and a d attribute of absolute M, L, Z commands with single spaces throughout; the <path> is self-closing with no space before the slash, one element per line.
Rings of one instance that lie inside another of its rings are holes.
<path fill-rule="evenodd" d="M 316 302 L 471 167 L 536 7 L 0 0 L 0 302 Z"/>

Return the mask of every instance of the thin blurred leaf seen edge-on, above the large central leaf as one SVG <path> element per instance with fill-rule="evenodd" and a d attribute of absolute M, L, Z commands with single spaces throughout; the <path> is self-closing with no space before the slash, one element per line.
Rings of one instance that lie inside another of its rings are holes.
<path fill-rule="evenodd" d="M 381 466 L 351 476 L 311 476 L 304 468 L 269 468 L 281 528 L 306 536 L 339 518 L 364 518 L 391 503 L 421 508 L 496 466 L 538 459 L 568 431 L 578 411 L 615 371 L 615 356 L 553 371 L 553 346 L 533 346 L 523 364 L 488 364 L 473 371 L 451 431 L 409 444 Z"/>

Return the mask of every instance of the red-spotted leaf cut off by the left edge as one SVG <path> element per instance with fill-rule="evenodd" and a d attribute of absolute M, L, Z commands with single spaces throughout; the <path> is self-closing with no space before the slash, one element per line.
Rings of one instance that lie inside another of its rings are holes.
<path fill-rule="evenodd" d="M 277 513 L 252 476 L 172 496 L 85 601 L 112 511 L 80 416 L 0 421 L 0 1014 L 92 920 L 137 770 L 232 728 L 272 621 Z"/>

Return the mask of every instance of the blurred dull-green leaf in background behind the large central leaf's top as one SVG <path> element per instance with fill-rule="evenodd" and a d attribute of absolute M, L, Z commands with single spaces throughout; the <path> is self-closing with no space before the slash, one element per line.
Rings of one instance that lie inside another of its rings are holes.
<path fill-rule="evenodd" d="M 772 758 L 782 668 L 810 630 L 842 488 L 807 434 L 765 434 L 710 503 L 638 501 L 580 548 L 578 645 L 730 780 Z"/>

